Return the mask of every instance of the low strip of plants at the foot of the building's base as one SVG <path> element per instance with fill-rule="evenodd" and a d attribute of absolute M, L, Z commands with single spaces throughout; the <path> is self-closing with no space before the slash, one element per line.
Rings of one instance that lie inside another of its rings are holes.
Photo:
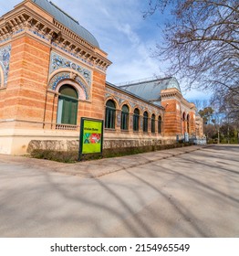
<path fill-rule="evenodd" d="M 109 157 L 120 157 L 124 155 L 136 155 L 140 153 L 147 153 L 158 150 L 165 150 L 183 146 L 189 146 L 192 144 L 163 144 L 163 145 L 149 145 L 141 147 L 123 147 L 123 148 L 109 148 L 104 149 L 103 154 L 89 154 L 83 155 L 81 161 L 96 160 L 101 158 Z M 37 159 L 47 159 L 51 161 L 61 162 L 61 163 L 76 163 L 78 162 L 78 152 L 77 151 L 52 151 L 44 149 L 34 149 L 31 152 L 31 157 Z"/>

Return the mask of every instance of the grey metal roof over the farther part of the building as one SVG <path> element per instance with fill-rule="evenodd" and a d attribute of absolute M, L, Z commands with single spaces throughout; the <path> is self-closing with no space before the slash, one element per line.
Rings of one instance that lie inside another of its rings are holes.
<path fill-rule="evenodd" d="M 120 89 L 129 91 L 139 97 L 156 103 L 160 100 L 161 90 L 175 88 L 181 91 L 179 82 L 174 78 L 166 79 L 146 79 L 137 82 L 128 82 L 127 84 L 120 84 Z"/>

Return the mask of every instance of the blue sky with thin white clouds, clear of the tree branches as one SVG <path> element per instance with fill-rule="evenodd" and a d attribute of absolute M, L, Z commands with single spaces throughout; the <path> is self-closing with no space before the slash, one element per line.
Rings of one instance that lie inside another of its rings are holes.
<path fill-rule="evenodd" d="M 1 1 L 0 16 L 11 10 L 21 0 Z M 52 0 L 52 2 L 78 20 L 99 41 L 99 46 L 109 54 L 112 65 L 107 80 L 114 84 L 141 80 L 157 75 L 163 77 L 166 63 L 151 58 L 156 43 L 161 41 L 161 26 L 165 16 L 143 18 L 147 0 Z M 182 86 L 183 87 L 183 86 Z M 185 91 L 184 97 L 208 98 L 202 91 Z"/>

